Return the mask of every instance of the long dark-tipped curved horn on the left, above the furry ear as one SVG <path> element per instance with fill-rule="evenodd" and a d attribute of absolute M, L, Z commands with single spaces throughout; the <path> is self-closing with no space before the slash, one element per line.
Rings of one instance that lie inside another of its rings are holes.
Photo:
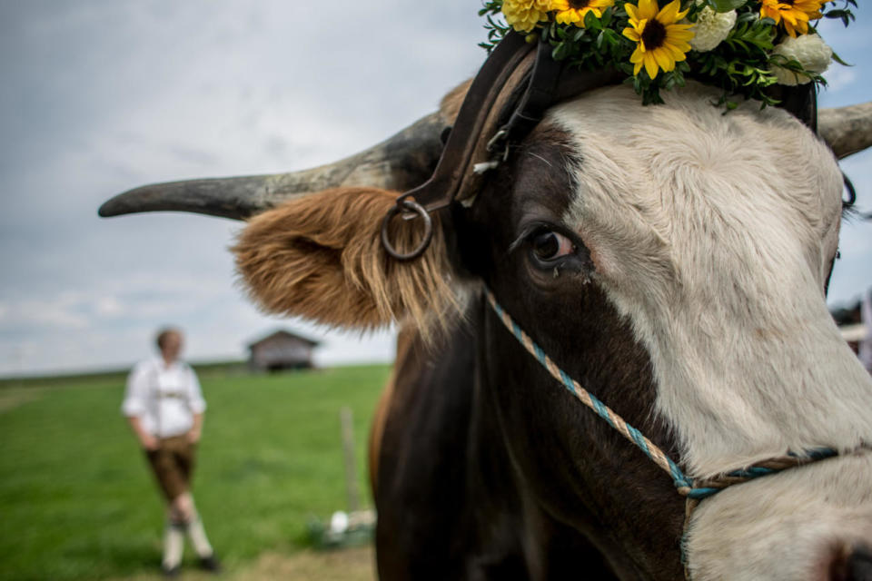
<path fill-rule="evenodd" d="M 301 172 L 145 185 L 100 206 L 103 217 L 172 210 L 243 220 L 294 196 L 340 186 L 404 192 L 430 177 L 446 123 L 431 113 L 400 133 L 339 162 Z"/>

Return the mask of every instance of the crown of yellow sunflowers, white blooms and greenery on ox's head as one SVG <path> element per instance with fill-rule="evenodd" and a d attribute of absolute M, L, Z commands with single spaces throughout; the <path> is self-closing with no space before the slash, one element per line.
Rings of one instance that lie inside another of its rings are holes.
<path fill-rule="evenodd" d="M 662 103 L 660 90 L 692 73 L 722 88 L 728 109 L 735 95 L 765 107 L 778 103 L 771 85 L 826 84 L 830 61 L 845 64 L 817 34 L 821 18 L 854 20 L 856 1 L 839 1 L 484 0 L 481 46 L 490 51 L 514 29 L 549 43 L 556 61 L 622 71 L 645 104 Z"/>

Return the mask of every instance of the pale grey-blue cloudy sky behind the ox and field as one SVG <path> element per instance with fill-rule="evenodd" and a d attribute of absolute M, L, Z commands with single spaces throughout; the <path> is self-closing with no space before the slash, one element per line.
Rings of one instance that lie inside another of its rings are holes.
<path fill-rule="evenodd" d="M 390 359 L 390 333 L 263 316 L 234 285 L 237 222 L 99 219 L 137 185 L 330 162 L 436 107 L 484 56 L 477 0 L 0 0 L 0 375 L 124 367 L 167 322 L 194 360 L 290 327 L 322 363 Z M 872 9 L 825 37 L 823 106 L 872 99 Z M 872 154 L 843 163 L 872 210 Z M 847 225 L 832 301 L 872 286 L 872 224 Z"/>

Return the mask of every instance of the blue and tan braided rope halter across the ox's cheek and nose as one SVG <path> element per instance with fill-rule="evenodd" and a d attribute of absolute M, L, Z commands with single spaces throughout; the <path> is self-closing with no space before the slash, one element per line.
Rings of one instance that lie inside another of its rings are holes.
<path fill-rule="evenodd" d="M 812 462 L 817 462 L 818 460 L 838 456 L 838 452 L 832 448 L 815 448 L 804 451 L 802 455 L 788 453 L 787 456 L 769 458 L 752 464 L 748 468 L 733 470 L 712 478 L 693 480 L 687 477 L 684 472 L 681 471 L 681 468 L 679 468 L 679 466 L 673 462 L 663 452 L 663 450 L 646 438 L 638 429 L 630 426 L 612 409 L 609 409 L 607 405 L 593 396 L 587 389 L 582 388 L 578 381 L 570 378 L 563 369 L 560 369 L 557 364 L 555 364 L 554 361 L 545 354 L 540 346 L 534 340 L 530 339 L 530 335 L 520 328 L 518 323 L 510 317 L 509 313 L 500 307 L 500 304 L 493 296 L 493 293 L 490 292 L 490 290 L 486 290 L 485 292 L 490 307 L 497 313 L 502 324 L 505 325 L 506 329 L 510 330 L 511 334 L 520 341 L 520 344 L 524 346 L 524 349 L 528 350 L 545 369 L 548 369 L 551 377 L 560 381 L 560 383 L 568 389 L 572 395 L 580 399 L 581 403 L 596 412 L 600 418 L 605 419 L 609 423 L 609 426 L 617 429 L 621 436 L 635 444 L 648 458 L 657 464 L 659 468 L 669 474 L 669 477 L 672 478 L 672 481 L 675 483 L 675 487 L 679 494 L 683 497 L 687 497 L 686 525 L 689 523 L 690 514 L 693 512 L 694 508 L 699 505 L 699 501 L 717 494 L 726 487 L 742 484 L 755 478 L 776 474 L 788 468 L 798 468 L 800 466 L 811 464 Z M 868 449 L 870 449 L 869 445 L 861 444 L 855 448 L 853 452 Z"/>

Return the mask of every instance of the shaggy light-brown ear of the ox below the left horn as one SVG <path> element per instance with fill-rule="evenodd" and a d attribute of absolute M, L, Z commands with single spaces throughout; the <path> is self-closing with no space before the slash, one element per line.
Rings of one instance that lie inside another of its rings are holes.
<path fill-rule="evenodd" d="M 439 217 L 430 248 L 414 261 L 391 259 L 381 220 L 397 192 L 325 190 L 259 214 L 233 247 L 249 295 L 263 310 L 368 330 L 409 315 L 421 330 L 457 306 Z M 391 222 L 398 250 L 421 240 L 421 221 Z"/>

